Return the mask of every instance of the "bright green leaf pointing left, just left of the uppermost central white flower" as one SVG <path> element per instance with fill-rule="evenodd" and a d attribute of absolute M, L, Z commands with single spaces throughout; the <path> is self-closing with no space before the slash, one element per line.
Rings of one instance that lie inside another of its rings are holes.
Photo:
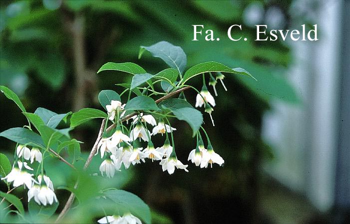
<path fill-rule="evenodd" d="M 107 118 L 107 114 L 101 110 L 84 108 L 73 113 L 70 118 L 70 127 L 76 127 L 84 122 L 95 118 Z"/>

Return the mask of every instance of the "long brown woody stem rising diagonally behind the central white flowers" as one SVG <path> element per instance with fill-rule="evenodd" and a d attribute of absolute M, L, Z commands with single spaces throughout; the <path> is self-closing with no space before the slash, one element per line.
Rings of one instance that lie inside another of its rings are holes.
<path fill-rule="evenodd" d="M 163 100 L 166 100 L 166 99 L 168 99 L 168 98 L 170 98 L 170 97 L 172 97 L 172 96 L 174 96 L 174 95 L 176 95 L 176 94 L 178 94 L 178 93 L 180 93 L 180 92 L 182 92 L 182 91 L 185 91 L 185 90 L 187 90 L 187 89 L 189 89 L 189 88 L 190 88 L 189 86 L 186 86 L 186 87 L 183 87 L 183 88 L 181 88 L 181 89 L 178 89 L 178 90 L 176 90 L 176 91 L 174 91 L 174 92 L 171 92 L 171 93 L 169 93 L 169 94 L 167 94 L 167 95 L 165 95 L 165 96 L 163 96 L 163 97 L 157 99 L 155 102 L 156 102 L 156 103 L 160 103 L 160 102 L 162 102 Z M 129 114 L 128 116 L 124 117 L 124 118 L 121 119 L 120 121 L 121 121 L 121 122 L 124 122 L 124 121 L 130 119 L 132 116 L 134 116 L 134 115 L 136 115 L 136 114 L 137 114 L 137 113 Z M 97 139 L 96 139 L 96 141 L 95 141 L 95 144 L 93 145 L 93 147 L 92 147 L 92 149 L 91 149 L 91 152 L 90 152 L 90 155 L 89 155 L 89 157 L 87 158 L 86 163 L 85 163 L 85 165 L 84 165 L 84 170 L 86 170 L 87 167 L 90 165 L 91 160 L 92 160 L 92 157 L 95 155 L 95 153 L 96 153 L 96 151 L 97 151 L 97 145 L 98 145 L 98 142 L 100 141 L 100 139 L 102 138 L 102 134 L 103 134 L 103 129 L 104 129 L 105 122 L 106 122 L 106 119 L 103 119 L 102 124 L 101 124 L 101 128 L 100 128 L 100 131 L 98 132 L 98 136 L 97 136 Z M 112 125 L 109 126 L 106 130 L 109 131 L 109 130 L 111 130 L 113 127 L 115 127 L 115 124 L 112 124 Z M 74 188 L 76 188 L 77 185 L 78 185 L 78 182 L 75 183 Z M 73 202 L 74 202 L 74 198 L 75 198 L 75 195 L 74 195 L 73 193 L 71 193 L 70 196 L 69 196 L 69 198 L 68 198 L 68 200 L 67 200 L 67 202 L 66 202 L 66 204 L 64 205 L 63 210 L 61 211 L 61 213 L 60 213 L 59 216 L 57 217 L 55 223 L 58 223 L 58 222 L 65 216 L 65 214 L 68 212 L 68 210 L 69 210 L 70 207 L 72 206 L 72 204 L 73 204 Z"/>

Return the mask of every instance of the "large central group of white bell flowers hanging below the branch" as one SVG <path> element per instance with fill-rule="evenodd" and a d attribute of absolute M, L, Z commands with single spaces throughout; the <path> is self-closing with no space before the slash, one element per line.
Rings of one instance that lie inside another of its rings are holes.
<path fill-rule="evenodd" d="M 213 97 L 209 95 L 206 95 L 205 100 L 215 105 Z M 199 102 L 199 104 L 200 103 L 201 102 Z M 204 101 L 204 103 L 206 102 Z M 176 131 L 176 128 L 170 126 L 167 118 L 160 119 L 157 123 L 152 114 L 139 113 L 130 118 L 132 122 L 130 128 L 127 128 L 122 122 L 124 121 L 123 106 L 119 107 L 115 105 L 122 105 L 122 103 L 112 100 L 111 105 L 107 105 L 106 108 L 108 117 L 113 116 L 116 127 L 114 131 L 110 133 L 108 133 L 105 128 L 95 154 L 100 154 L 101 158 L 105 158 L 99 167 L 102 176 L 105 174 L 108 178 L 111 178 L 114 176 L 115 171 L 120 171 L 122 165 L 124 165 L 125 169 L 128 169 L 131 164 L 144 163 L 147 159 L 152 162 L 160 161 L 159 164 L 162 166 L 162 170 L 167 171 L 169 174 L 173 174 L 175 168 L 183 169 L 188 172 L 186 169 L 188 165 L 184 165 L 177 159 L 175 149 L 170 145 L 169 133 L 173 138 L 173 131 Z M 110 108 L 113 109 L 111 110 Z M 169 124 L 165 124 L 165 121 Z M 152 126 L 152 129 L 150 129 L 152 131 L 148 130 L 147 126 Z M 205 132 L 204 129 L 203 131 Z M 165 135 L 166 139 L 163 146 L 154 147 L 151 136 L 157 134 Z M 198 139 L 200 139 L 199 146 L 197 147 L 198 149 L 190 152 L 188 160 L 191 160 L 196 166 L 200 165 L 201 168 L 207 168 L 208 164 L 212 166 L 213 163 L 217 163 L 221 166 L 224 160 L 213 151 L 209 137 L 207 136 L 208 149 L 204 148 L 199 131 L 197 132 L 197 142 Z M 139 147 L 142 141 L 147 143 L 147 147 Z"/>

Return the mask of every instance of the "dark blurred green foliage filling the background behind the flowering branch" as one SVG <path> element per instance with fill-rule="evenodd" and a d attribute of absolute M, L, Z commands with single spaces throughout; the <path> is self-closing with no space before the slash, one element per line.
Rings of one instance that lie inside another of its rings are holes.
<path fill-rule="evenodd" d="M 150 54 L 138 60 L 138 49 L 161 40 L 184 49 L 187 68 L 205 61 L 245 68 L 258 82 L 227 75 L 228 91 L 217 85 L 216 126 L 211 127 L 205 118 L 215 151 L 225 159 L 224 167 L 197 169 L 190 165 L 189 174 L 169 176 L 158 164 L 147 163 L 100 182 L 140 196 L 156 211 L 154 223 L 269 223 L 258 209 L 264 182 L 260 164 L 263 159 L 273 159 L 271 148 L 261 139 L 262 115 L 271 100 L 301 102 L 284 76 L 291 62 L 288 46 L 279 41 L 254 41 L 252 24 L 265 24 L 264 11 L 273 7 L 285 18 L 280 27 L 287 28 L 291 5 L 291 0 L 1 0 L 0 84 L 16 92 L 29 112 L 37 107 L 57 113 L 83 107 L 101 109 L 98 92 L 113 89 L 120 93 L 121 87 L 114 84 L 129 82 L 131 76 L 115 71 L 97 75 L 98 68 L 105 62 L 134 62 L 155 74 L 166 65 Z M 214 30 L 221 40 L 205 41 L 203 35 L 192 41 L 193 24 Z M 232 24 L 242 24 L 243 29 L 233 36 L 242 35 L 248 41 L 227 38 Z M 192 84 L 200 89 L 201 79 Z M 211 87 L 209 90 L 213 93 Z M 194 102 L 195 93 L 185 95 Z M 13 103 L 3 95 L 0 100 L 0 131 L 25 124 Z M 174 121 L 173 125 L 178 157 L 186 161 L 195 147 L 190 129 L 183 122 Z M 83 153 L 92 146 L 98 127 L 98 121 L 93 121 L 72 133 L 84 142 Z M 154 143 L 163 142 L 156 139 Z M 11 154 L 14 144 L 2 139 L 0 149 Z M 99 162 L 96 157 L 91 172 L 97 173 Z M 72 182 L 69 167 L 59 161 L 47 164 L 46 170 L 57 187 Z M 56 194 L 60 210 L 69 192 L 61 189 Z"/>

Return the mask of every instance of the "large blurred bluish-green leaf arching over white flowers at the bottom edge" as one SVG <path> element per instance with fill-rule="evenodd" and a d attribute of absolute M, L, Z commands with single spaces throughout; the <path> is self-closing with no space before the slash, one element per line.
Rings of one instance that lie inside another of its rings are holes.
<path fill-rule="evenodd" d="M 115 203 L 115 209 L 121 216 L 131 213 L 146 224 L 151 224 L 150 209 L 138 196 L 123 190 L 108 190 L 103 195 Z"/>

